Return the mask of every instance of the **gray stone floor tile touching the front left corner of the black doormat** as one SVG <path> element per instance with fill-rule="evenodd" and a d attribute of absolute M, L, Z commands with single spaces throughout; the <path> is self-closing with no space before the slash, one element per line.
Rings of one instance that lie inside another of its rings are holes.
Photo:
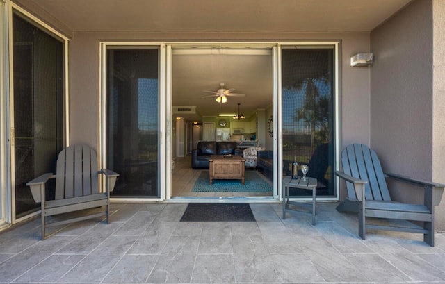
<path fill-rule="evenodd" d="M 128 254 L 161 254 L 178 222 L 153 222 Z"/>

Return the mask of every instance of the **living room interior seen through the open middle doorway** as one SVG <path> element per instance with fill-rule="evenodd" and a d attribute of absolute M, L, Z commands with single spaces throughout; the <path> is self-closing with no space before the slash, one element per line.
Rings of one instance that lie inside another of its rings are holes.
<path fill-rule="evenodd" d="M 197 148 L 209 146 L 204 146 L 204 141 L 212 141 L 210 147 L 215 147 L 215 151 L 225 147 L 218 153 L 230 155 L 243 156 L 246 149 L 271 152 L 272 103 L 271 48 L 245 45 L 174 49 L 172 197 L 271 197 L 272 178 L 265 171 L 261 174 L 261 169 L 254 165 L 256 158 L 250 163 L 246 161 L 246 185 L 238 180 L 219 180 L 208 185 L 208 158 L 201 161 L 196 153 L 200 151 Z M 266 156 L 272 160 L 271 153 Z M 257 183 L 252 184 L 254 180 Z"/>

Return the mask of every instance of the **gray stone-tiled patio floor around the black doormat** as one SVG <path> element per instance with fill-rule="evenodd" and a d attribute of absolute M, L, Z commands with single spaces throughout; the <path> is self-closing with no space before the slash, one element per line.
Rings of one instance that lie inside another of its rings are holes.
<path fill-rule="evenodd" d="M 40 219 L 0 234 L 0 283 L 445 283 L 445 234 L 368 232 L 336 203 L 317 223 L 281 203 L 252 203 L 257 222 L 179 222 L 186 203 L 113 203 L 93 219 L 54 228 Z"/>

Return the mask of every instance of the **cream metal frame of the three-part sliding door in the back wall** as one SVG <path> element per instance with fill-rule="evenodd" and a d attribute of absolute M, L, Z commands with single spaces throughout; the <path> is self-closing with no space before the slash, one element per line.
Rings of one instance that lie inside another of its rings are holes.
<path fill-rule="evenodd" d="M 160 136 L 160 152 L 159 163 L 163 165 L 160 167 L 159 198 L 113 198 L 115 201 L 168 201 L 172 198 L 172 50 L 175 48 L 190 48 L 193 47 L 264 47 L 270 48 L 273 51 L 273 200 L 282 199 L 282 99 L 281 99 L 281 79 L 282 79 L 282 62 L 281 62 L 281 47 L 282 46 L 334 46 L 334 170 L 339 168 L 339 40 L 332 41 L 296 41 L 296 42 L 132 42 L 132 41 L 103 41 L 99 45 L 99 155 L 101 160 L 99 163 L 106 165 L 106 48 L 108 46 L 122 46 L 122 47 L 159 47 L 159 136 Z M 170 162 L 168 162 L 170 161 Z M 323 201 L 338 201 L 339 200 L 339 181 L 335 179 L 335 196 L 334 197 L 320 197 L 318 200 Z M 218 198 L 218 200 L 220 200 Z M 304 199 L 300 199 L 304 200 Z M 181 201 L 186 201 L 181 199 Z M 265 201 L 265 199 L 262 199 Z"/>

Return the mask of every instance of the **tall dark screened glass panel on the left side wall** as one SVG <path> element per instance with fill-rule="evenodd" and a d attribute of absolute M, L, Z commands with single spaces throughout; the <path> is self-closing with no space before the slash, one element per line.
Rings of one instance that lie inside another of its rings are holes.
<path fill-rule="evenodd" d="M 63 149 L 63 42 L 13 14 L 16 218 L 40 208 L 26 183 L 56 172 Z M 47 199 L 54 199 L 54 185 Z"/>

